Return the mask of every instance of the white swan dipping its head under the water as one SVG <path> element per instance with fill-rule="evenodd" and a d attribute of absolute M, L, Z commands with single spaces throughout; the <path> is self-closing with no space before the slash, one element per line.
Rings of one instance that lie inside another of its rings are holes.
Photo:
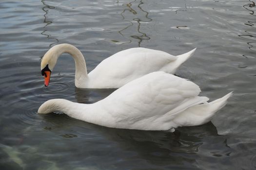
<path fill-rule="evenodd" d="M 102 126 L 138 130 L 171 130 L 204 124 L 222 108 L 232 92 L 213 102 L 199 97 L 198 85 L 161 71 L 149 73 L 92 104 L 53 99 L 38 113 L 54 111 Z"/>

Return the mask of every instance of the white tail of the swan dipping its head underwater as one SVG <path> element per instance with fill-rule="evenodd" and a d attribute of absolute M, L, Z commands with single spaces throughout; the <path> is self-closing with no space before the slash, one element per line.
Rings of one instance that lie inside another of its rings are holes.
<path fill-rule="evenodd" d="M 218 110 L 227 104 L 232 94 L 233 91 L 213 102 L 194 105 L 177 115 L 174 122 L 177 126 L 197 126 L 207 123 Z"/>

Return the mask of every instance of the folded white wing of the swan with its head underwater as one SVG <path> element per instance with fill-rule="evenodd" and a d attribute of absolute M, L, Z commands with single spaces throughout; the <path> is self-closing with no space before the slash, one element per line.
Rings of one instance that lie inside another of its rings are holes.
<path fill-rule="evenodd" d="M 134 126 L 139 121 L 164 119 L 165 115 L 171 118 L 202 102 L 200 97 L 195 99 L 199 92 L 193 82 L 158 71 L 122 86 L 100 102 L 116 122 Z"/>

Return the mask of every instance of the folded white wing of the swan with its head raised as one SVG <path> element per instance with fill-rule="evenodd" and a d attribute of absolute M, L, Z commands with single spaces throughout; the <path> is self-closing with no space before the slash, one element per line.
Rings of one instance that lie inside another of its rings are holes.
<path fill-rule="evenodd" d="M 176 59 L 176 56 L 164 51 L 132 48 L 106 58 L 88 76 L 93 80 L 94 87 L 102 85 L 102 82 L 109 84 L 110 88 L 112 82 L 113 86 L 118 84 L 120 87 L 150 72 L 167 71 L 161 69 Z"/>

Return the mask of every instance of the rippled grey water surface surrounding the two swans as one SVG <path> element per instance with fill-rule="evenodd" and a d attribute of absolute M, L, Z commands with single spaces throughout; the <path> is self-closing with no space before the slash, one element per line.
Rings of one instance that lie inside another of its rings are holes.
<path fill-rule="evenodd" d="M 253 0 L 1 0 L 0 169 L 256 169 L 255 8 Z M 60 43 L 78 47 L 88 71 L 131 47 L 174 55 L 197 47 L 177 75 L 211 100 L 235 94 L 211 122 L 176 133 L 38 115 L 49 99 L 93 103 L 113 92 L 75 88 L 67 54 L 44 87 L 40 58 Z"/>

